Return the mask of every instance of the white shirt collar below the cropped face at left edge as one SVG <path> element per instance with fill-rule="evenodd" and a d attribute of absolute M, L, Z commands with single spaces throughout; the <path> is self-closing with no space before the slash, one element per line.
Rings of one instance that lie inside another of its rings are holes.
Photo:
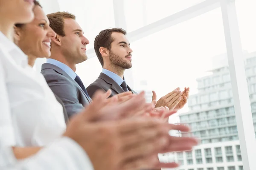
<path fill-rule="evenodd" d="M 10 54 L 12 59 L 17 65 L 26 67 L 28 65 L 28 57 L 21 51 L 21 49 L 10 41 L 1 31 L 0 31 L 0 45 Z"/>

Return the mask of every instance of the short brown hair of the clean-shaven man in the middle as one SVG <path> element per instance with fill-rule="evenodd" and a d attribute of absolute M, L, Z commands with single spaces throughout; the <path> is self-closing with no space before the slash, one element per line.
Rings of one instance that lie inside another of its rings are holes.
<path fill-rule="evenodd" d="M 65 36 L 64 19 L 71 18 L 73 20 L 76 20 L 76 16 L 68 12 L 55 12 L 52 14 L 48 14 L 47 17 L 50 21 L 50 27 L 52 28 L 52 30 L 62 37 Z"/>

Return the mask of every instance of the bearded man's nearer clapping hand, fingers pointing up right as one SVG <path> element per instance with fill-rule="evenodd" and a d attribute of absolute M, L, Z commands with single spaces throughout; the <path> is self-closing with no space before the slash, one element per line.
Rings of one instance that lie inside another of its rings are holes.
<path fill-rule="evenodd" d="M 182 99 L 183 92 L 180 91 L 180 88 L 176 88 L 174 91 L 166 94 L 165 96 L 161 97 L 157 102 L 157 94 L 155 91 L 152 91 L 152 103 L 155 103 L 155 107 L 159 108 L 161 106 L 167 106 L 170 111 L 174 110 L 175 107 L 179 104 L 180 100 Z"/>

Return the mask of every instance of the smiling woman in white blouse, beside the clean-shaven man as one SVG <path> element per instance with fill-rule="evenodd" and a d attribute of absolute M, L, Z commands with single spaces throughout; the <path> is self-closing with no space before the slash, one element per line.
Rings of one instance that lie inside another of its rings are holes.
<path fill-rule="evenodd" d="M 15 1 L 27 3 L 28 0 Z M 30 3 L 34 3 L 34 0 L 29 1 Z M 14 37 L 15 40 L 28 41 L 30 48 L 22 50 L 29 55 L 29 60 L 39 56 L 49 57 L 50 38 L 55 35 L 42 8 L 35 5 L 33 12 L 35 19 L 32 24 L 25 24 L 16 29 Z M 26 28 L 32 29 L 28 33 L 30 36 L 24 34 L 26 31 L 23 30 Z M 6 107 L 10 108 L 14 125 L 15 141 L 12 142 L 12 146 L 45 146 L 59 139 L 66 130 L 62 106 L 56 100 L 43 75 L 27 64 L 28 57 L 12 42 L 8 42 L 3 35 L 0 41 L 10 48 L 9 57 L 1 59 L 4 63 L 6 98 L 9 98 L 9 107 Z M 18 41 L 18 45 L 23 47 L 20 42 Z M 36 54 L 35 57 L 33 56 L 35 51 L 42 53 Z"/>

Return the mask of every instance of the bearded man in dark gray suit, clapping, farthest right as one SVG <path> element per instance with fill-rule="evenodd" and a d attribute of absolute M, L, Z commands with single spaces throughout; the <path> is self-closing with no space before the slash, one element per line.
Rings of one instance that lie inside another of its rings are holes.
<path fill-rule="evenodd" d="M 125 35 L 126 31 L 122 28 L 109 28 L 96 36 L 94 50 L 103 69 L 99 78 L 87 87 L 90 97 L 99 89 L 111 89 L 111 96 L 125 91 L 136 94 L 124 79 L 125 70 L 132 67 L 132 49 Z M 185 88 L 184 91 L 176 88 L 156 101 L 156 93 L 153 91 L 152 102 L 156 104 L 156 108 L 163 106 L 170 110 L 179 110 L 186 104 L 188 96 L 189 88 Z"/>

